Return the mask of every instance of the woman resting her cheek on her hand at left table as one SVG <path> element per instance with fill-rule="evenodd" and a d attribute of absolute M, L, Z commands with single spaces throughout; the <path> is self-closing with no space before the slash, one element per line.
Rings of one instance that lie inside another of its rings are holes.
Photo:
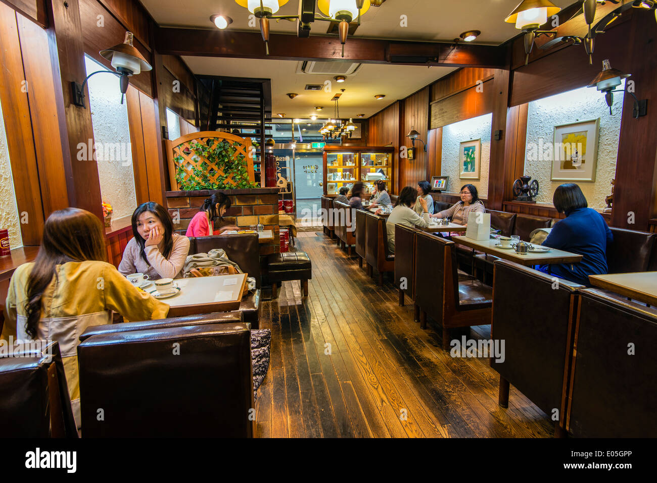
<path fill-rule="evenodd" d="M 141 203 L 132 214 L 132 233 L 119 272 L 147 274 L 150 280 L 183 276 L 189 238 L 173 233 L 173 220 L 162 205 L 154 201 Z"/>

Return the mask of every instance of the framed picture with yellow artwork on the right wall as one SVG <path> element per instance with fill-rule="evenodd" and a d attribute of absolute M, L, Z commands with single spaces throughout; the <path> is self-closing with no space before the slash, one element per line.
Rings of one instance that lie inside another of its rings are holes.
<path fill-rule="evenodd" d="M 600 118 L 555 126 L 552 180 L 595 181 Z"/>

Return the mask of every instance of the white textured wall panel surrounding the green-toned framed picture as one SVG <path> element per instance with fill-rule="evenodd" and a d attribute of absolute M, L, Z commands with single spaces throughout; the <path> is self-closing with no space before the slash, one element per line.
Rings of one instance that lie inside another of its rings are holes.
<path fill-rule="evenodd" d="M 442 176 L 449 176 L 447 191 L 459 192 L 464 184 L 474 184 L 480 198 L 488 196 L 488 166 L 491 154 L 491 128 L 493 114 L 472 117 L 443 127 Z M 482 158 L 479 179 L 460 179 L 461 142 L 482 140 Z"/>

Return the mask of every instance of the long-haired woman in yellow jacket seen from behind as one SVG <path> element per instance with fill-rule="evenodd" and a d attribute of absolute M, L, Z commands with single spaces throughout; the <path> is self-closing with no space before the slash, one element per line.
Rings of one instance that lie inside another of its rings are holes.
<path fill-rule="evenodd" d="M 80 425 L 77 348 L 91 326 L 112 323 L 112 310 L 126 320 L 165 318 L 169 306 L 128 282 L 106 263 L 105 230 L 89 211 L 53 212 L 33 263 L 16 268 L 9 282 L 2 338 L 58 341 L 73 413 Z"/>

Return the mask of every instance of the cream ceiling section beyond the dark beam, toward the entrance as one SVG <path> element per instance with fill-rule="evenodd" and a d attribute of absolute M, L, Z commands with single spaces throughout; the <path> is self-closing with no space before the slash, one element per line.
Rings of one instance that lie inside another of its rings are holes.
<path fill-rule="evenodd" d="M 340 96 L 340 117 L 355 118 L 358 114 L 369 117 L 454 70 L 448 67 L 362 64 L 354 74 L 347 76 L 345 82 L 337 83 L 328 75 L 296 74 L 300 62 L 293 60 L 189 56 L 183 56 L 183 60 L 194 74 L 271 79 L 273 116 L 281 112 L 285 117 L 300 118 L 307 118 L 311 114 L 333 117 L 334 103 L 330 99 L 340 93 L 340 89 L 346 89 Z M 331 81 L 330 93 L 304 90 L 306 84 L 323 84 L 325 80 Z M 287 93 L 296 93 L 298 96 L 290 99 Z M 376 100 L 376 94 L 386 97 Z M 315 112 L 315 106 L 323 106 L 324 110 Z"/>

